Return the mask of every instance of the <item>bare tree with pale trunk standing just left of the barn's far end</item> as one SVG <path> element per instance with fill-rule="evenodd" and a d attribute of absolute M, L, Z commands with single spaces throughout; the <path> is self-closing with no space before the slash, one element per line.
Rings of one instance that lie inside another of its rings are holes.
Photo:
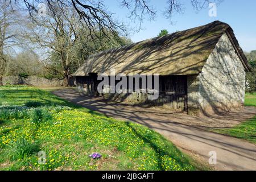
<path fill-rule="evenodd" d="M 49 56 L 52 52 L 57 54 L 62 71 L 57 69 L 55 71 L 63 75 L 64 85 L 68 86 L 73 61 L 72 50 L 76 44 L 77 30 L 81 23 L 75 9 L 72 6 L 66 6 L 65 1 L 51 1 L 46 5 L 48 11 L 45 15 L 33 15 L 33 21 L 26 36 L 34 46 L 37 45 L 44 50 L 45 55 L 48 55 L 45 60 L 48 69 L 54 69 L 48 67 Z"/>

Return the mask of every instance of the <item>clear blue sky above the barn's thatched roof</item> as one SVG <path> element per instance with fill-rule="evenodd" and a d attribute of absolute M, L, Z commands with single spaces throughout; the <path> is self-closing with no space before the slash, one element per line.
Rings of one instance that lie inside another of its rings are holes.
<path fill-rule="evenodd" d="M 120 20 L 130 23 L 131 27 L 137 24 L 127 18 L 129 13 L 126 9 L 121 9 L 118 0 L 104 1 L 112 13 Z M 185 5 L 185 13 L 175 15 L 174 22 L 164 18 L 163 11 L 167 6 L 166 0 L 151 0 L 152 5 L 158 11 L 154 21 L 145 19 L 142 23 L 143 30 L 130 35 L 133 42 L 153 38 L 157 36 L 162 29 L 167 29 L 170 33 L 186 30 L 188 28 L 201 26 L 220 20 L 228 23 L 234 30 L 234 33 L 244 51 L 256 50 L 256 1 L 255 0 L 224 0 L 217 7 L 217 17 L 210 17 L 210 9 L 203 9 L 199 13 L 192 8 L 190 0 L 180 0 Z"/>

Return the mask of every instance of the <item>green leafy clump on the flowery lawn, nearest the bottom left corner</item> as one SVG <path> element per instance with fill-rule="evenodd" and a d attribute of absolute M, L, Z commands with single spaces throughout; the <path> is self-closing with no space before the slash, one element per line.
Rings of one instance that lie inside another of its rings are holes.
<path fill-rule="evenodd" d="M 37 143 L 28 142 L 28 140 L 21 138 L 10 145 L 9 155 L 12 160 L 25 159 L 34 152 L 39 151 Z"/>

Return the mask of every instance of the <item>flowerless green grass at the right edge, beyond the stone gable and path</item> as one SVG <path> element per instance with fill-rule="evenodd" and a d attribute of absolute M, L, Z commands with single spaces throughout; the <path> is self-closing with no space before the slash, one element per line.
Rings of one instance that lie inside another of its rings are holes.
<path fill-rule="evenodd" d="M 247 93 L 245 96 L 246 106 L 256 107 L 256 93 Z M 232 129 L 216 129 L 217 133 L 230 135 L 232 137 L 248 140 L 251 143 L 256 144 L 256 116 L 248 121 L 241 123 L 240 125 L 233 127 Z"/>

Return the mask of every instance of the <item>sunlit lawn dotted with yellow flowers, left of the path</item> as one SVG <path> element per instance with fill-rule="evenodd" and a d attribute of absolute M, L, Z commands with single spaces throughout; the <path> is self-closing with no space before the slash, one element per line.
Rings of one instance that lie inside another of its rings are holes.
<path fill-rule="evenodd" d="M 101 159 L 90 158 L 93 152 Z M 195 170 L 199 166 L 142 125 L 94 113 L 46 90 L 0 87 L 0 170 Z"/>

